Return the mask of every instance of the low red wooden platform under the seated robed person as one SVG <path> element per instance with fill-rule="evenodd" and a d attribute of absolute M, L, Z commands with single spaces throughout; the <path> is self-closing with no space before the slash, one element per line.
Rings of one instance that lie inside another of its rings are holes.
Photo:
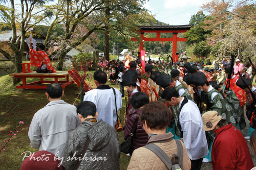
<path fill-rule="evenodd" d="M 27 73 L 16 73 L 10 74 L 14 78 L 22 78 L 22 85 L 16 86 L 16 88 L 30 88 L 30 89 L 46 89 L 47 85 L 45 83 L 59 83 L 62 88 L 65 89 L 66 86 L 73 84 L 74 81 L 69 80 L 68 71 L 56 71 L 54 73 L 37 73 L 27 72 Z M 27 78 L 40 78 L 40 81 L 35 81 L 27 83 Z M 44 78 L 54 78 L 54 81 L 44 81 Z M 66 81 L 58 81 L 58 78 L 66 78 Z"/>

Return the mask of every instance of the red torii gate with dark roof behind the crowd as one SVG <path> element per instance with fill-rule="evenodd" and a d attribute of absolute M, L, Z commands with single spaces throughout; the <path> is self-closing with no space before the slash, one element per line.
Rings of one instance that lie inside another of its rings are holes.
<path fill-rule="evenodd" d="M 178 33 L 185 33 L 194 25 L 182 25 L 182 26 L 137 26 L 140 30 L 140 36 L 142 41 L 140 42 L 139 51 L 143 50 L 144 41 L 173 41 L 173 61 L 178 61 L 177 41 L 187 41 L 186 38 L 177 37 Z M 146 38 L 144 33 L 157 33 L 156 38 Z M 173 37 L 160 38 L 160 33 L 173 33 Z M 133 41 L 138 41 L 136 38 L 132 38 Z"/>

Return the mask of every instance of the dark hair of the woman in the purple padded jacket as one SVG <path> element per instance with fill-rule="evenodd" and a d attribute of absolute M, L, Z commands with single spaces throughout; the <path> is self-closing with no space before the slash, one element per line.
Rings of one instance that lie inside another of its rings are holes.
<path fill-rule="evenodd" d="M 139 109 L 147 103 L 150 103 L 150 99 L 148 99 L 146 93 L 137 92 L 132 95 L 131 104 L 135 109 Z"/>

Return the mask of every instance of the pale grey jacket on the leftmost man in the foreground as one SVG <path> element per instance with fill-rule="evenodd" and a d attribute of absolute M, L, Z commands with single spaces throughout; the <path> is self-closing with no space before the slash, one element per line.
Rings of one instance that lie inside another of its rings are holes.
<path fill-rule="evenodd" d="M 52 101 L 38 110 L 32 119 L 28 136 L 32 148 L 63 156 L 69 132 L 80 125 L 76 107 L 63 100 Z"/>

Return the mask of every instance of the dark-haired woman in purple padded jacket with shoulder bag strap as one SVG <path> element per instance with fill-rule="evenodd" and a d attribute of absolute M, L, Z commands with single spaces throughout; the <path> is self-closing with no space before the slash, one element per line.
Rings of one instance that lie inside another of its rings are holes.
<path fill-rule="evenodd" d="M 146 93 L 137 92 L 132 96 L 131 103 L 132 106 L 135 108 L 135 112 L 131 113 L 130 118 L 126 122 L 126 126 L 124 128 L 124 140 L 127 139 L 129 137 L 129 134 L 131 133 L 136 116 L 138 116 L 139 118 L 141 109 L 145 104 L 149 102 L 150 100 L 148 99 Z M 148 135 L 142 128 L 142 125 L 140 124 L 140 121 L 138 119 L 136 130 L 132 138 L 132 149 L 130 151 L 130 155 L 132 155 L 133 151 L 137 148 L 143 147 L 147 143 L 147 141 Z"/>

